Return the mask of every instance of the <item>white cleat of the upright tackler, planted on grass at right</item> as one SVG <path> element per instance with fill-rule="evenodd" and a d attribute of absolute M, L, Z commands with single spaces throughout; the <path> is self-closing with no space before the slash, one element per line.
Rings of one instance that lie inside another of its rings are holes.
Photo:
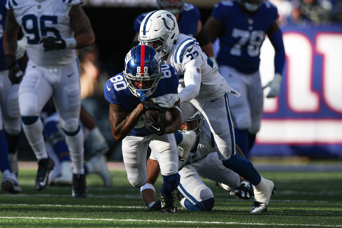
<path fill-rule="evenodd" d="M 249 213 L 262 213 L 267 211 L 267 206 L 269 202 L 269 198 L 274 194 L 273 190 L 276 188 L 272 180 L 266 181 L 266 187 L 263 191 L 257 191 L 254 187 L 254 202 L 252 205 L 252 210 Z"/>

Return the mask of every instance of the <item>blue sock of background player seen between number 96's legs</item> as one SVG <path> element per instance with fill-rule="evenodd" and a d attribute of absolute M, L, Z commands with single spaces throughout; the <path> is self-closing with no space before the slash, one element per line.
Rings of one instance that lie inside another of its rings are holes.
<path fill-rule="evenodd" d="M 45 137 L 48 138 L 60 162 L 70 161 L 69 149 L 65 137 L 58 131 L 57 122 L 50 121 L 44 126 Z"/>

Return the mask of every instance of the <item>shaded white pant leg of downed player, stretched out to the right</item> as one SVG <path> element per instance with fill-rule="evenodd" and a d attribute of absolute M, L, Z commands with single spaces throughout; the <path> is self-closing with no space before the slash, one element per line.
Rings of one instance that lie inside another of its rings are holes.
<path fill-rule="evenodd" d="M 209 155 L 201 162 L 192 164 L 199 175 L 220 182 L 229 187 L 236 189 L 240 186 L 240 176 L 222 164 L 217 153 L 209 153 Z"/>

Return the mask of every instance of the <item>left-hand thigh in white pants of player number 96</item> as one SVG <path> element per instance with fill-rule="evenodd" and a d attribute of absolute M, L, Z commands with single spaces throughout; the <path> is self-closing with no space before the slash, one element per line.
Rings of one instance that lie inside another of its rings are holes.
<path fill-rule="evenodd" d="M 45 70 L 27 64 L 25 76 L 19 86 L 19 109 L 23 117 L 38 116 L 50 99 L 53 88 L 45 79 Z"/>

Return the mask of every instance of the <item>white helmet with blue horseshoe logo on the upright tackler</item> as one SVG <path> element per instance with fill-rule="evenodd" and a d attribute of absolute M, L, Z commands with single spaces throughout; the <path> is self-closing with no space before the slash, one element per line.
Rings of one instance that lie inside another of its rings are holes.
<path fill-rule="evenodd" d="M 138 40 L 156 49 L 163 57 L 171 51 L 178 36 L 175 16 L 166 10 L 156 10 L 147 14 L 141 22 Z"/>

